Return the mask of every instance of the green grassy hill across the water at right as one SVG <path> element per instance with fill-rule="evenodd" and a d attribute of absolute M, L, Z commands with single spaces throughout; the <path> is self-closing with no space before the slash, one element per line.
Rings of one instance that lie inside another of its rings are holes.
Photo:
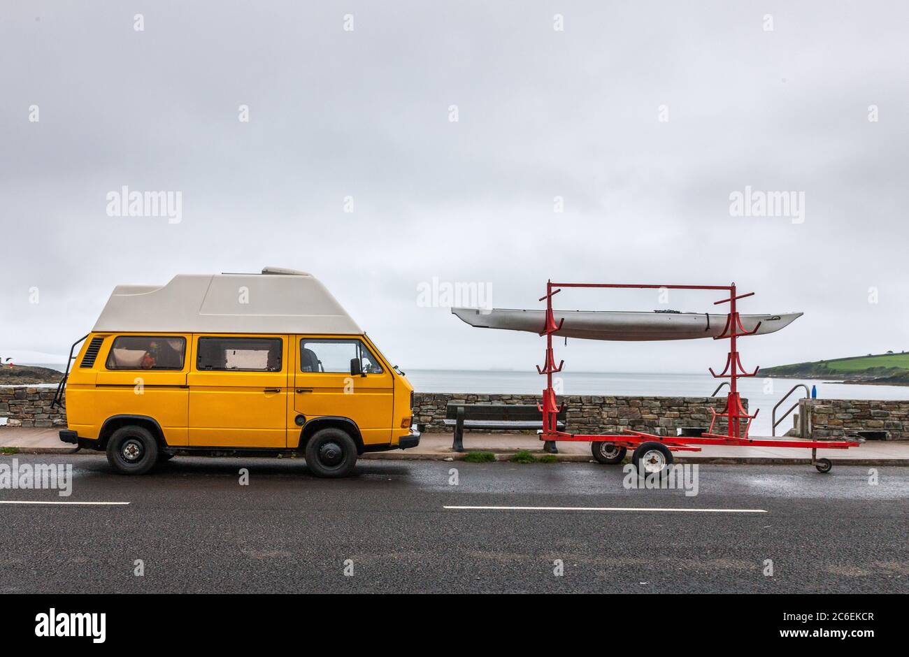
<path fill-rule="evenodd" d="M 831 361 L 793 363 L 761 370 L 767 376 L 843 379 L 853 383 L 909 385 L 909 353 L 869 353 Z"/>

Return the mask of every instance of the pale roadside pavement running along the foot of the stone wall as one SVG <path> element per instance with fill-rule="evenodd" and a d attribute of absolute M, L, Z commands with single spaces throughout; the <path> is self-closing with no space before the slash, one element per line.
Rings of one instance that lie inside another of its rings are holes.
<path fill-rule="evenodd" d="M 76 447 L 62 443 L 60 427 L 0 427 L 0 450 L 18 453 L 76 453 Z M 464 459 L 464 453 L 451 449 L 451 433 L 424 433 L 420 445 L 409 450 L 366 453 L 362 458 L 376 460 L 442 461 Z M 469 452 L 492 452 L 496 459 L 507 461 L 515 452 L 527 450 L 543 454 L 543 443 L 531 433 L 464 433 L 464 448 Z M 585 463 L 592 460 L 590 443 L 558 443 L 558 460 Z M 80 453 L 91 453 L 81 451 Z M 810 463 L 807 449 L 784 447 L 705 446 L 701 452 L 674 454 L 675 463 L 762 464 L 784 465 Z M 848 450 L 818 450 L 819 457 L 845 465 L 909 465 L 909 441 L 869 441 Z"/>

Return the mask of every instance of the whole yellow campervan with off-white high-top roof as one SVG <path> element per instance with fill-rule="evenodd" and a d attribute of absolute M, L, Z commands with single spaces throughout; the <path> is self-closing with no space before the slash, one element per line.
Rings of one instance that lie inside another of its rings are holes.
<path fill-rule="evenodd" d="M 310 274 L 119 285 L 72 368 L 60 440 L 141 474 L 175 454 L 305 453 L 325 477 L 415 447 L 413 386 Z M 72 351 L 71 351 L 72 354 Z"/>

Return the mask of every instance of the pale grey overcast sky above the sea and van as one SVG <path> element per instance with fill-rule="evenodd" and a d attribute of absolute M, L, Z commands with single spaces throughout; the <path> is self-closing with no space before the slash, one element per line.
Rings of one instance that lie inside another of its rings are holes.
<path fill-rule="evenodd" d="M 743 313 L 805 313 L 744 343 L 745 366 L 909 350 L 904 2 L 35 1 L 0 15 L 0 355 L 66 353 L 115 284 L 265 265 L 322 279 L 405 369 L 542 363 L 541 338 L 418 304 L 434 277 L 489 285 L 505 308 L 541 307 L 550 277 L 735 281 L 756 293 Z M 124 185 L 179 192 L 179 223 L 110 216 Z M 804 221 L 734 216 L 746 186 L 801 196 Z M 560 297 L 697 312 L 717 298 Z M 703 372 L 725 351 L 569 341 L 559 355 Z"/>

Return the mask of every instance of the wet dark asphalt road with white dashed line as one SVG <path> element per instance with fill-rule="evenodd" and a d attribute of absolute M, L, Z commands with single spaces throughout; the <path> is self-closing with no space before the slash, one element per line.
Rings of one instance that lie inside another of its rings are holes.
<path fill-rule="evenodd" d="M 0 592 L 909 591 L 900 467 L 870 485 L 867 467 L 703 465 L 689 497 L 588 463 L 365 461 L 323 480 L 296 459 L 177 457 L 128 477 L 103 455 L 15 458 L 71 463 L 73 494 L 0 501 L 129 504 L 0 503 Z M 748 513 L 444 508 L 488 505 Z"/>

